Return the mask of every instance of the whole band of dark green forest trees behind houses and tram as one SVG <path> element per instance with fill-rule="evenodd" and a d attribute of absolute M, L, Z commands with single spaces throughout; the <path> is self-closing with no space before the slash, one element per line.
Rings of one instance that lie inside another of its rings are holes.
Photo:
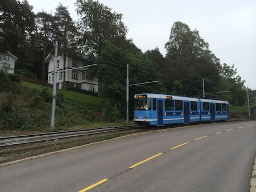
<path fill-rule="evenodd" d="M 79 20 L 75 22 L 68 7 L 56 7 L 54 14 L 32 11 L 26 0 L 2 0 L 0 5 L 0 52 L 18 57 L 15 74 L 48 77 L 45 62 L 54 44 L 59 42 L 59 54 L 84 54 L 98 65 L 90 69 L 99 80 L 98 97 L 105 98 L 118 108 L 126 105 L 126 64 L 129 64 L 129 83 L 160 81 L 130 87 L 130 101 L 136 93 L 163 93 L 187 97 L 203 97 L 203 78 L 206 98 L 222 99 L 232 105 L 247 102 L 245 81 L 237 75 L 234 64 L 221 64 L 199 31 L 191 30 L 177 21 L 171 27 L 165 48 L 142 52 L 133 39 L 127 39 L 127 27 L 122 14 L 93 0 L 77 0 Z M 0 61 L 3 65 L 3 63 Z M 226 93 L 219 93 L 229 91 Z M 249 89 L 254 98 L 256 90 Z M 103 99 L 104 103 L 106 100 Z M 130 108 L 133 103 L 130 103 Z"/>

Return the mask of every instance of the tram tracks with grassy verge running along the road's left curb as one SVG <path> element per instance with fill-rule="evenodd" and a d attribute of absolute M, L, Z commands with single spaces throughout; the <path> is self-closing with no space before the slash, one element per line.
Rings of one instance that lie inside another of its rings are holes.
<path fill-rule="evenodd" d="M 190 124 L 190 126 L 191 125 L 192 124 Z M 173 124 L 163 127 L 118 126 L 0 137 L 0 164 L 97 141 L 108 140 L 113 137 L 129 135 L 135 132 L 162 130 L 180 126 L 185 125 Z"/>

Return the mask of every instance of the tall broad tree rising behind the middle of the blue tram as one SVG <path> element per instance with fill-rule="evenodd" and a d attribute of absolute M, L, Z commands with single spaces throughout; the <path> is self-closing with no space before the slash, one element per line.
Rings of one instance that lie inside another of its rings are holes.
<path fill-rule="evenodd" d="M 169 91 L 173 82 L 180 80 L 183 95 L 200 97 L 202 78 L 207 80 L 209 92 L 219 90 L 219 59 L 209 50 L 208 43 L 200 37 L 199 31 L 191 31 L 187 24 L 175 22 L 165 48 L 165 76 L 170 82 Z"/>

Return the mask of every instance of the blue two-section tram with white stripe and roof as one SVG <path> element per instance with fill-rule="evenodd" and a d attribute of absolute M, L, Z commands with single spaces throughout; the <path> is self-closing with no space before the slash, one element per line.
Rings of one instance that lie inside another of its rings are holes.
<path fill-rule="evenodd" d="M 229 102 L 174 95 L 135 94 L 134 122 L 164 126 L 165 124 L 215 122 L 229 119 Z"/>

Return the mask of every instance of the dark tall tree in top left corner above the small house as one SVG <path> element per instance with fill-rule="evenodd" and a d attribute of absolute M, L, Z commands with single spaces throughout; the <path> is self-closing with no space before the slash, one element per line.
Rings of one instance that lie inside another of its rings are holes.
<path fill-rule="evenodd" d="M 3 0 L 0 5 L 0 52 L 10 51 L 18 57 L 16 69 L 31 67 L 34 50 L 31 36 L 35 27 L 34 12 L 26 0 Z"/>

